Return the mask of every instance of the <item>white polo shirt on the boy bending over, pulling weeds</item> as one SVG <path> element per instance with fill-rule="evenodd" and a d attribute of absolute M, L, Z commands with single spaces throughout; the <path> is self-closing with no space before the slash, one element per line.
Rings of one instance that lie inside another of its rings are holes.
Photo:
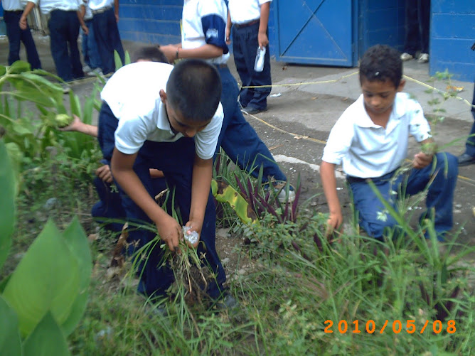
<path fill-rule="evenodd" d="M 165 63 L 139 62 L 125 65 L 110 77 L 101 92 L 119 124 L 115 146 L 122 153 L 134 154 L 145 141 L 174 142 L 183 137 L 171 131 L 166 107 L 159 92 L 166 91 L 174 66 Z M 223 107 L 219 104 L 211 122 L 195 136 L 198 157 L 214 156 L 223 124 Z"/>

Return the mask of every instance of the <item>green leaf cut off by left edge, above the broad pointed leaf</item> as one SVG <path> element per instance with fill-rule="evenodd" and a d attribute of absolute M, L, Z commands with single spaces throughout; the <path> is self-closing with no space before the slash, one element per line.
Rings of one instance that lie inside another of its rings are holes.
<path fill-rule="evenodd" d="M 0 139 L 0 269 L 11 247 L 15 226 L 15 175 L 4 140 Z"/>

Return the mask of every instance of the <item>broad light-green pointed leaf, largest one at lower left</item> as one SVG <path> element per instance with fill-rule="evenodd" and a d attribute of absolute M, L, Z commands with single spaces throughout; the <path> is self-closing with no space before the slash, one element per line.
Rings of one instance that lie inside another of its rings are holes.
<path fill-rule="evenodd" d="M 4 298 L 18 314 L 23 337 L 50 310 L 58 323 L 70 315 L 80 288 L 79 263 L 48 220 L 6 284 Z"/>

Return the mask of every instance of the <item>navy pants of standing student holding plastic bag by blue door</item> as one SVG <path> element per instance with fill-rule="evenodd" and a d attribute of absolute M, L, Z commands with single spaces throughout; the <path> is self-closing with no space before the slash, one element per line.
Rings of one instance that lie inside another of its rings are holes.
<path fill-rule="evenodd" d="M 233 26 L 234 63 L 243 87 L 272 85 L 269 45 L 266 46 L 264 69 L 262 72 L 254 70 L 257 47 L 259 47 L 258 33 L 259 21 L 250 26 Z M 240 92 L 240 103 L 242 107 L 265 109 L 271 90 L 272 87 L 243 88 Z"/>

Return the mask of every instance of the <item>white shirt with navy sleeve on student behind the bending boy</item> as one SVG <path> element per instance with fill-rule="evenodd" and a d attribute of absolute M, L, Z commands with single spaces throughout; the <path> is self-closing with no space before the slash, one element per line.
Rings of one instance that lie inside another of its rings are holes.
<path fill-rule="evenodd" d="M 223 48 L 223 55 L 207 59 L 208 63 L 225 64 L 229 51 L 225 42 L 228 8 L 224 0 L 185 0 L 183 3 L 181 45 L 198 48 L 211 43 Z M 204 26 L 204 28 L 203 28 Z"/>

